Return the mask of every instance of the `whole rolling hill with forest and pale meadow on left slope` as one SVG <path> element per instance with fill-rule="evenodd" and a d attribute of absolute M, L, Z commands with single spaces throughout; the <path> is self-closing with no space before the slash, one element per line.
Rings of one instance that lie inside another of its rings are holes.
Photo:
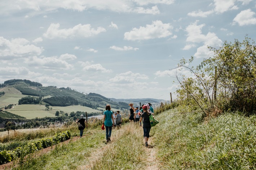
<path fill-rule="evenodd" d="M 40 83 L 28 80 L 13 79 L 0 84 L 0 87 L 0 107 L 18 104 L 18 101 L 26 96 L 42 97 L 42 104 L 49 104 L 50 106 L 81 105 L 96 110 L 105 108 L 106 104 L 110 104 L 115 109 L 127 109 L 128 106 L 123 102 L 111 101 L 109 98 L 97 93 L 84 94 L 69 87 L 43 87 Z M 4 94 L 2 94 L 3 92 Z"/>

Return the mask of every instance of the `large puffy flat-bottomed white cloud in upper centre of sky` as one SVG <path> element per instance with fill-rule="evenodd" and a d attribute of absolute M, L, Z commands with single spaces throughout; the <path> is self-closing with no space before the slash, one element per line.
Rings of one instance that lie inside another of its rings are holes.
<path fill-rule="evenodd" d="M 164 24 L 160 20 L 153 21 L 146 27 L 133 28 L 130 32 L 124 33 L 124 40 L 149 40 L 154 38 L 164 38 L 172 35 L 170 31 L 173 27 L 168 23 Z"/>

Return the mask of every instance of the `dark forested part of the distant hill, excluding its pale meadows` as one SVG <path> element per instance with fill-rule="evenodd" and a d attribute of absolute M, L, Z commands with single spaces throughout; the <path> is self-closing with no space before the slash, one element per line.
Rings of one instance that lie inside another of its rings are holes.
<path fill-rule="evenodd" d="M 98 107 L 105 108 L 106 104 L 110 104 L 111 107 L 115 109 L 128 108 L 128 103 L 115 102 L 97 93 L 87 94 L 84 92 L 78 92 L 77 90 L 71 89 L 70 87 L 43 87 L 40 83 L 32 82 L 26 79 L 12 79 L 5 81 L 3 84 L 0 84 L 0 88 L 3 87 L 16 88 L 23 95 L 41 97 L 42 102 L 45 102 L 50 106 L 82 105 L 97 109 Z"/>

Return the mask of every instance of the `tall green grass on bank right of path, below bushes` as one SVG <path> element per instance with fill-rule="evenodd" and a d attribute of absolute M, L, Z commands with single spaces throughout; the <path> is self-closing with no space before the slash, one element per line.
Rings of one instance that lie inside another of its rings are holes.
<path fill-rule="evenodd" d="M 154 129 L 162 169 L 256 169 L 256 116 L 165 111 Z"/>

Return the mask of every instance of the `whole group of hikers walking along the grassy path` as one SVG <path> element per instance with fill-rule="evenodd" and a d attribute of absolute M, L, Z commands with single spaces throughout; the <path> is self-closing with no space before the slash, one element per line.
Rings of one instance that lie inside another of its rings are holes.
<path fill-rule="evenodd" d="M 143 104 L 142 106 L 135 108 L 133 107 L 133 103 L 129 103 L 130 106 L 130 114 L 129 114 L 129 121 L 130 123 L 136 123 L 138 126 L 142 126 L 144 131 L 144 140 L 145 140 L 145 146 L 148 147 L 148 140 L 149 140 L 149 132 L 151 129 L 150 125 L 150 119 L 149 116 L 152 114 L 154 115 L 154 109 L 150 103 Z M 76 119 L 76 123 L 80 123 L 85 126 L 88 126 L 87 121 L 84 119 L 84 116 L 80 116 L 81 119 Z M 143 122 L 143 125 L 141 124 Z M 86 124 L 86 125 L 85 125 Z M 122 124 L 122 116 L 120 114 L 120 111 L 116 111 L 114 113 L 111 111 L 111 106 L 109 104 L 106 105 L 106 111 L 103 113 L 103 126 L 105 126 L 106 129 L 106 143 L 111 142 L 111 132 L 112 128 L 120 128 Z M 83 136 L 83 129 L 80 130 L 80 138 Z"/>

